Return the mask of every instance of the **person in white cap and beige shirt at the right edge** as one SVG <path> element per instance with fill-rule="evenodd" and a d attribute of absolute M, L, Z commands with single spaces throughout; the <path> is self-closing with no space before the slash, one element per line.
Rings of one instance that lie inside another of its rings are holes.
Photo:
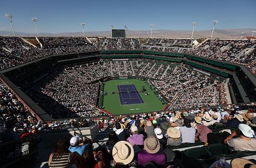
<path fill-rule="evenodd" d="M 236 135 L 238 135 L 238 138 L 234 138 Z M 256 138 L 253 138 L 249 125 L 244 123 L 240 123 L 238 130 L 232 132 L 224 140 L 224 143 L 237 151 L 256 151 Z"/>

